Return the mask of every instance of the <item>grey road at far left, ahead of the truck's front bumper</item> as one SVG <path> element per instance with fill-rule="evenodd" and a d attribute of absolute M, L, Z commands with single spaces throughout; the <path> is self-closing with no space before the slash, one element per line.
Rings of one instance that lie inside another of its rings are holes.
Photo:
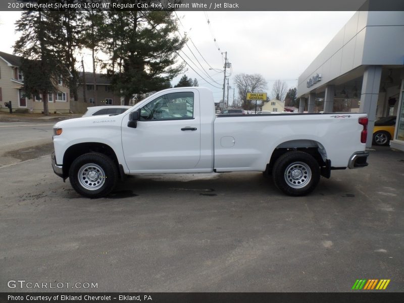
<path fill-rule="evenodd" d="M 41 121 L 0 122 L 0 142 L 2 142 L 0 145 L 0 167 L 25 160 L 24 154 L 26 156 L 29 153 L 41 155 L 39 147 L 35 149 L 32 149 L 32 147 L 52 142 L 52 127 L 54 124 Z M 13 151 L 19 151 L 19 153 L 13 153 Z"/>

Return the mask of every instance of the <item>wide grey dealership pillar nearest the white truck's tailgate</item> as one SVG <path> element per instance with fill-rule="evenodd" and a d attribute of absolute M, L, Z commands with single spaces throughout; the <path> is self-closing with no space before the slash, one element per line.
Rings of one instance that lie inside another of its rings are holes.
<path fill-rule="evenodd" d="M 375 126 L 377 99 L 379 97 L 381 66 L 368 66 L 363 75 L 360 113 L 368 114 L 368 138 L 366 147 L 372 146 L 373 127 Z"/>

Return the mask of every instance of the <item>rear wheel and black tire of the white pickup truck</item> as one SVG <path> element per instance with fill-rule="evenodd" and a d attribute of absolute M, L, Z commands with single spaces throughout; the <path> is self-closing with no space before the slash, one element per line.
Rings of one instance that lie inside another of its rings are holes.
<path fill-rule="evenodd" d="M 287 195 L 306 195 L 320 181 L 320 165 L 313 156 L 303 151 L 288 151 L 276 160 L 272 180 Z"/>

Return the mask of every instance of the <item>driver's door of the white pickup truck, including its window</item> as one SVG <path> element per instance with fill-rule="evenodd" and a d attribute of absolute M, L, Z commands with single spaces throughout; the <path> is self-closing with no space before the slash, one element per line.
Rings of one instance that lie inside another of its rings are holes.
<path fill-rule="evenodd" d="M 199 116 L 198 91 L 191 89 L 148 102 L 140 109 L 136 128 L 124 119 L 122 147 L 130 172 L 194 168 L 200 158 Z"/>

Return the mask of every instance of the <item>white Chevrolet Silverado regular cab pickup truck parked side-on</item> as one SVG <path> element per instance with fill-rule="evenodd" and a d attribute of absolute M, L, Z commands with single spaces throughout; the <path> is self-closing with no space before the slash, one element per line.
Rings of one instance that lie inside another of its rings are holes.
<path fill-rule="evenodd" d="M 83 196 L 125 175 L 260 171 L 288 195 L 367 166 L 366 114 L 216 115 L 203 87 L 157 92 L 123 114 L 58 122 L 52 166 Z"/>

